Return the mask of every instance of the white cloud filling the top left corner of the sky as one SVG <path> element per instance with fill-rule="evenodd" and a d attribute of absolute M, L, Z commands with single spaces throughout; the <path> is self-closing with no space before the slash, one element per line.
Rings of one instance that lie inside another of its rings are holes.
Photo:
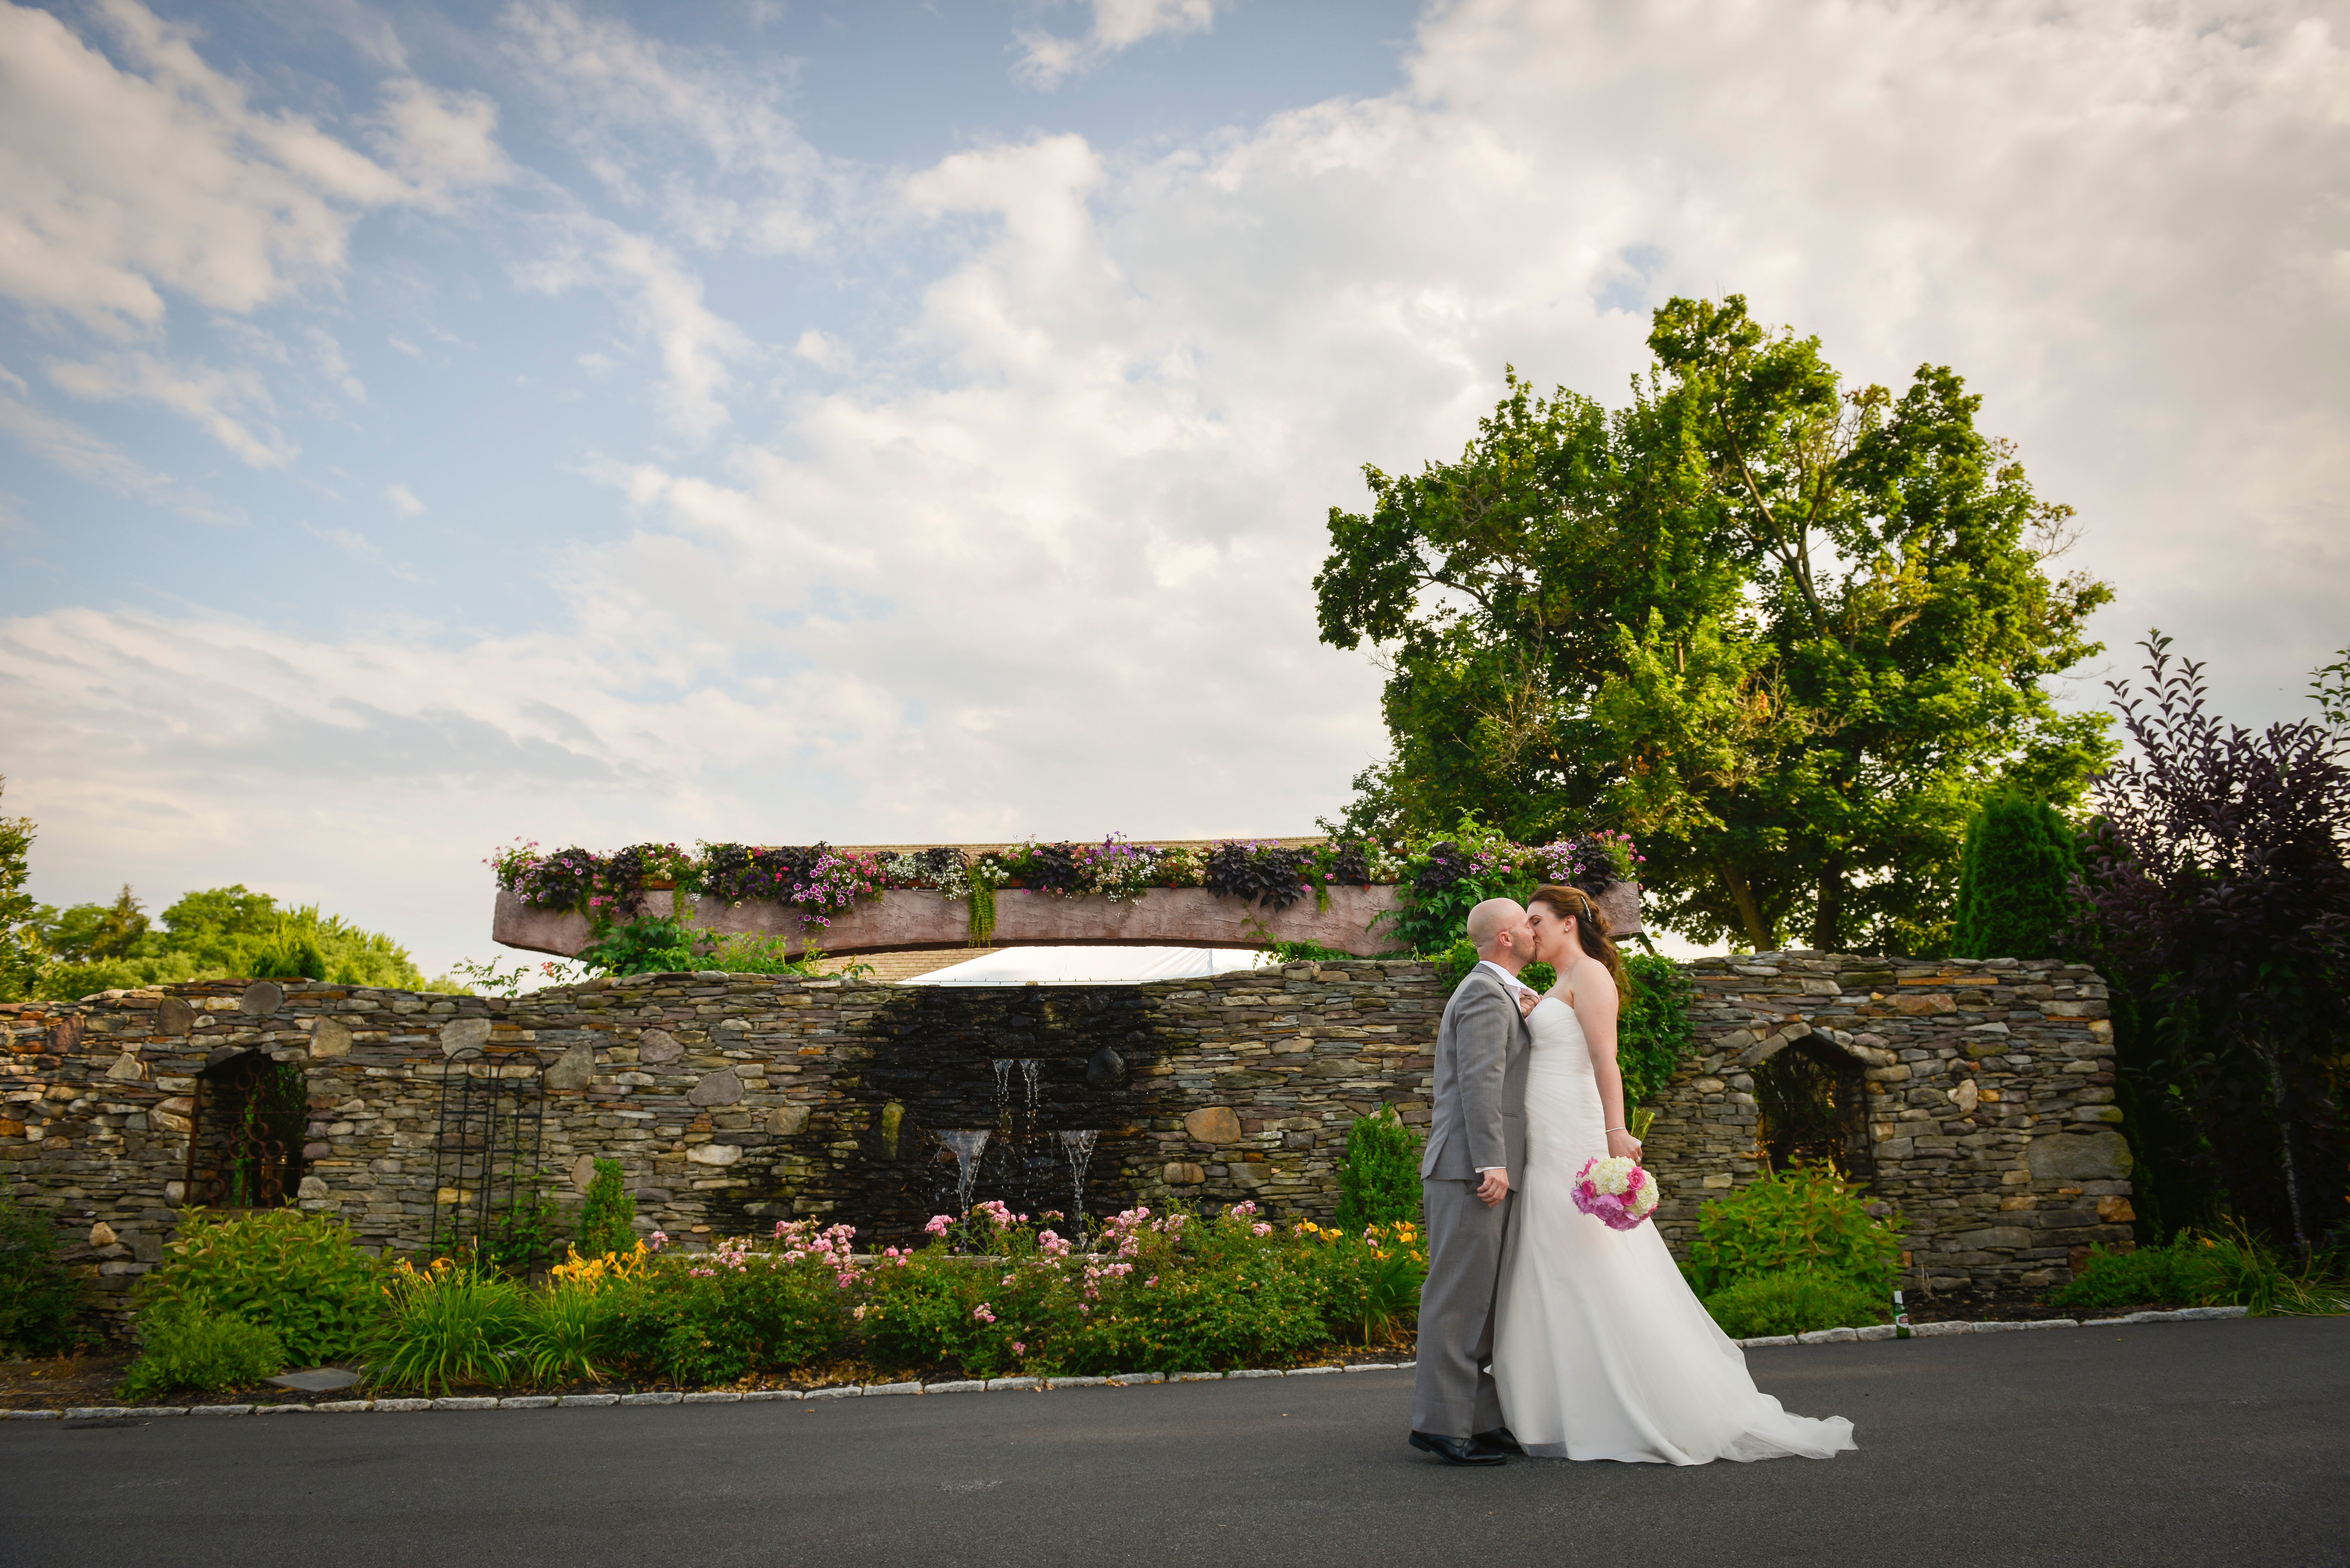
<path fill-rule="evenodd" d="M 190 28 L 136 0 L 96 16 L 127 66 L 0 0 L 0 294 L 35 310 L 127 331 L 179 292 L 249 313 L 336 275 L 364 209 L 442 202 L 501 169 L 484 101 L 392 82 L 385 167 L 254 108 Z"/>

